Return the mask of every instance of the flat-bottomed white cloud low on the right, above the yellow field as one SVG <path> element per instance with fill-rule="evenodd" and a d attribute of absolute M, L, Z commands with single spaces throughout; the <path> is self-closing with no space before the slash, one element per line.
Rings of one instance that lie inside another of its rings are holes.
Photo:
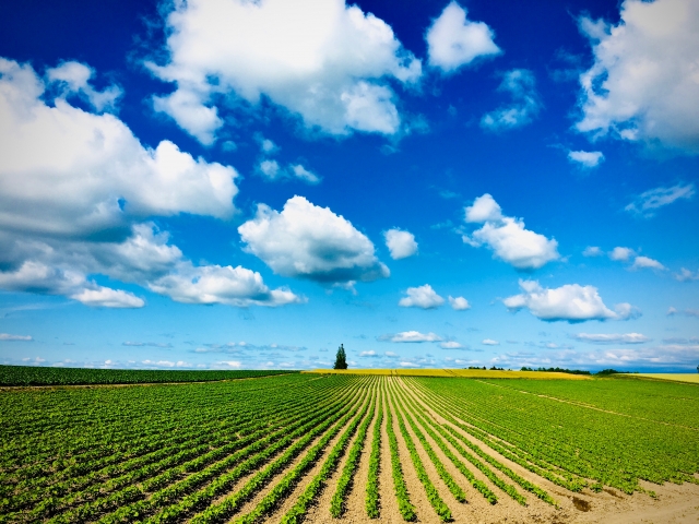
<path fill-rule="evenodd" d="M 612 311 L 607 308 L 597 288 L 566 284 L 557 288 L 544 288 L 536 281 L 520 279 L 523 293 L 502 300 L 510 311 L 526 308 L 536 318 L 547 322 L 584 322 L 588 320 L 628 320 L 639 312 L 630 303 L 618 303 Z"/>

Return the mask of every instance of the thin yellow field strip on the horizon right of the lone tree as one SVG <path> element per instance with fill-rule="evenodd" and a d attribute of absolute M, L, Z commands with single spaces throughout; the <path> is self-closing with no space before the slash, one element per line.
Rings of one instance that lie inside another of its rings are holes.
<path fill-rule="evenodd" d="M 467 379 L 590 380 L 590 376 L 548 371 L 496 371 L 489 369 L 313 369 L 301 373 L 369 374 L 378 377 L 463 377 Z"/>

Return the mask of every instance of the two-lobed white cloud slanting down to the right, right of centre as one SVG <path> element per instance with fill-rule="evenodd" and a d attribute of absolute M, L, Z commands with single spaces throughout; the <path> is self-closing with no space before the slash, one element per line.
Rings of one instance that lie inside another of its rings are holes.
<path fill-rule="evenodd" d="M 556 240 L 525 229 L 522 219 L 503 216 L 498 203 L 487 193 L 465 209 L 465 219 L 484 225 L 471 236 L 464 235 L 464 242 L 473 247 L 487 246 L 494 257 L 518 270 L 537 270 L 560 259 Z"/>

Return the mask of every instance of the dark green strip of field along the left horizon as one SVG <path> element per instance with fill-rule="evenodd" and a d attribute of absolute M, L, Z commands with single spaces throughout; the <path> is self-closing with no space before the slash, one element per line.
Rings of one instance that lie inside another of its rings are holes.
<path fill-rule="evenodd" d="M 139 384 L 151 382 L 210 382 L 248 379 L 298 371 L 187 371 L 150 369 L 43 368 L 36 366 L 0 366 L 0 385 L 90 385 Z"/>

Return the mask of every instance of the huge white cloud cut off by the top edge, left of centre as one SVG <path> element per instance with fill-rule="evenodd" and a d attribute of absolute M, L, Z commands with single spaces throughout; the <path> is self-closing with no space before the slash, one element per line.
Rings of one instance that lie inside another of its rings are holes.
<path fill-rule="evenodd" d="M 191 0 L 167 13 L 166 33 L 168 62 L 146 66 L 176 91 L 155 107 L 203 143 L 232 94 L 250 105 L 264 96 L 325 133 L 393 134 L 401 118 L 389 79 L 422 75 L 388 24 L 343 0 Z"/>

